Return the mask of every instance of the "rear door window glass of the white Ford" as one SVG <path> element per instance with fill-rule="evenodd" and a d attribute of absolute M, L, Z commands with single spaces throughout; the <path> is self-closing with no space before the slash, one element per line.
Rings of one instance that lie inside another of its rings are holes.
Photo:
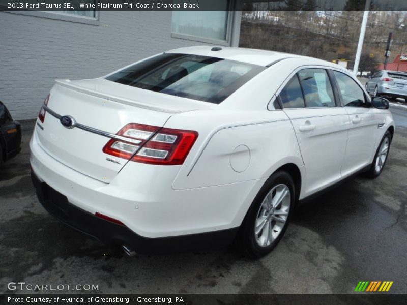
<path fill-rule="evenodd" d="M 327 71 L 304 69 L 298 72 L 307 107 L 335 107 L 335 98 Z"/>

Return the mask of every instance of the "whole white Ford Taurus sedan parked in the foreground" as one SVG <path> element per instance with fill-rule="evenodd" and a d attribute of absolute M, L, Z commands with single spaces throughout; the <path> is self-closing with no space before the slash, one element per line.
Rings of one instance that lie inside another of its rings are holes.
<path fill-rule="evenodd" d="M 237 240 L 260 257 L 297 201 L 382 172 L 388 107 L 323 60 L 181 48 L 57 80 L 30 142 L 32 177 L 50 214 L 128 254 Z"/>

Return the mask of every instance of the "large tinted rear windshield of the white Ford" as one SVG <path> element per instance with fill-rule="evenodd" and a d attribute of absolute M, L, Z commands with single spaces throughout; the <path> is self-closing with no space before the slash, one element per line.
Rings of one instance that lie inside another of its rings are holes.
<path fill-rule="evenodd" d="M 107 80 L 219 104 L 265 67 L 217 57 L 164 53 L 124 68 Z"/>

